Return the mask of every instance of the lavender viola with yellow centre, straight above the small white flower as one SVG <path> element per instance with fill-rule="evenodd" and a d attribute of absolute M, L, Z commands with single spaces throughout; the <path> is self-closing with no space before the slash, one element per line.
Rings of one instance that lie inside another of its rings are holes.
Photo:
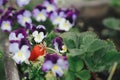
<path fill-rule="evenodd" d="M 35 9 L 33 10 L 33 17 L 34 17 L 34 18 L 36 19 L 36 21 L 38 21 L 38 22 L 46 21 L 46 19 L 47 19 L 47 12 L 46 12 L 46 10 L 44 9 L 44 7 L 43 7 L 43 9 L 42 9 L 42 6 L 39 6 L 39 8 L 41 8 L 41 10 L 38 9 L 38 8 L 35 8 Z"/>

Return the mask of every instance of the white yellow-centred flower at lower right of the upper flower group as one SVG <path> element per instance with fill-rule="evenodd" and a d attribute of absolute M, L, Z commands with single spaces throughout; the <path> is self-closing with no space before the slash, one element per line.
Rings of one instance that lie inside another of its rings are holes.
<path fill-rule="evenodd" d="M 65 31 L 69 31 L 71 28 L 72 28 L 72 24 L 68 20 L 65 20 L 64 22 L 60 23 L 60 25 L 58 26 L 58 29 Z"/>

